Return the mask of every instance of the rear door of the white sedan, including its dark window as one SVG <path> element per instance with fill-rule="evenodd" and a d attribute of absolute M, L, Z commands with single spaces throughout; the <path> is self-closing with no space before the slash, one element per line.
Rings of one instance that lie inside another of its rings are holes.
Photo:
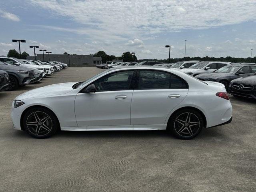
<path fill-rule="evenodd" d="M 188 84 L 174 74 L 161 70 L 138 70 L 132 96 L 131 124 L 156 125 L 154 127 L 164 129 L 166 117 L 187 93 Z"/>

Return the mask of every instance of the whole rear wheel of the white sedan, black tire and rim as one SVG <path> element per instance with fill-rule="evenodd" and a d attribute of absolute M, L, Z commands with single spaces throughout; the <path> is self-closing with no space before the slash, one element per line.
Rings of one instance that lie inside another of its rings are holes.
<path fill-rule="evenodd" d="M 204 120 L 199 112 L 183 109 L 172 115 L 167 130 L 179 139 L 192 139 L 198 136 L 203 127 Z"/>

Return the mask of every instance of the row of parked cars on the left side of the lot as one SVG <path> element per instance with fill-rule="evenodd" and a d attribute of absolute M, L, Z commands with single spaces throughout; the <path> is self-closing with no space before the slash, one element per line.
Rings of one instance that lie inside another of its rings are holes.
<path fill-rule="evenodd" d="M 44 77 L 67 68 L 58 61 L 40 61 L 0 56 L 0 91 L 40 82 Z"/>

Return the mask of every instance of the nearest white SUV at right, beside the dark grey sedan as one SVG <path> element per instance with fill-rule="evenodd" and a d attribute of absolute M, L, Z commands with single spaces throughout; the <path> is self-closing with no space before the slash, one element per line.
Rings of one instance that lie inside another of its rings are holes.
<path fill-rule="evenodd" d="M 230 65 L 230 63 L 216 62 L 216 61 L 212 61 L 212 62 L 204 61 L 204 62 L 198 62 L 187 69 L 181 69 L 180 71 L 182 71 L 186 74 L 192 75 L 192 76 L 196 76 L 196 75 L 203 74 L 203 73 L 214 72 L 215 70 L 222 68 L 226 65 Z"/>

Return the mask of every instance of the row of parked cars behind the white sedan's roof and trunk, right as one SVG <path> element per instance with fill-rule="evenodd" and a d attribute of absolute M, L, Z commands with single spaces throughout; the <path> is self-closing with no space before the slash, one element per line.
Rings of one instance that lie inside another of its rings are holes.
<path fill-rule="evenodd" d="M 156 61 L 144 62 L 106 62 L 98 68 L 113 68 L 117 66 L 158 66 L 180 70 L 202 81 L 220 82 L 233 96 L 256 99 L 256 64 L 230 63 L 216 61 L 181 61 L 162 63 Z"/>

